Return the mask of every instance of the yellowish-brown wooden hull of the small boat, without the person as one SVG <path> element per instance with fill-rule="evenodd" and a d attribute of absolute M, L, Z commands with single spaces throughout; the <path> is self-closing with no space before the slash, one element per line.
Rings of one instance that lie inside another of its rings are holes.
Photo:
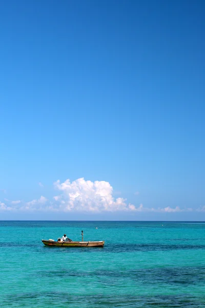
<path fill-rule="evenodd" d="M 103 247 L 105 241 L 88 241 L 88 242 L 55 242 L 49 240 L 42 240 L 46 246 L 58 246 L 58 247 Z"/>

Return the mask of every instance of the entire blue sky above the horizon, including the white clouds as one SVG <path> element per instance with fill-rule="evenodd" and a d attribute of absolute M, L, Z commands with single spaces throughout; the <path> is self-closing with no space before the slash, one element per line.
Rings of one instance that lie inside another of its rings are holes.
<path fill-rule="evenodd" d="M 205 220 L 204 14 L 1 4 L 0 219 Z"/>

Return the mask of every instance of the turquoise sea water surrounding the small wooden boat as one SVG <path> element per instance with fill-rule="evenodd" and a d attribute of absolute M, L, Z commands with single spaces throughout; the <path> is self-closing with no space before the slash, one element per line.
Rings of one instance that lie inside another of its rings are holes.
<path fill-rule="evenodd" d="M 41 242 L 81 230 L 105 247 Z M 0 234 L 0 307 L 205 307 L 205 223 L 0 221 Z"/>

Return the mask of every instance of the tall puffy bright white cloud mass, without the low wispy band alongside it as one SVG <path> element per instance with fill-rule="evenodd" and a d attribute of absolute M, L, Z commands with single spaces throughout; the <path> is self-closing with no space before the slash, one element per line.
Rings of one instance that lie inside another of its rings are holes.
<path fill-rule="evenodd" d="M 113 188 L 106 181 L 86 181 L 84 178 L 73 182 L 56 181 L 54 186 L 60 195 L 54 196 L 63 211 L 101 211 L 135 210 L 133 204 L 127 204 L 124 198 L 114 198 Z"/>

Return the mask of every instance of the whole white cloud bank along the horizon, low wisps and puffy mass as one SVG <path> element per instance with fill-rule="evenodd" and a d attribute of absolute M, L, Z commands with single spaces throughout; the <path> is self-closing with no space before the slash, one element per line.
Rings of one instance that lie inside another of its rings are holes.
<path fill-rule="evenodd" d="M 39 183 L 39 185 L 42 183 Z M 43 185 L 43 184 L 42 184 Z M 5 203 L 0 202 L 2 211 L 58 211 L 58 212 L 116 212 L 127 211 L 134 213 L 137 218 L 139 213 L 157 212 L 169 215 L 182 211 L 193 211 L 192 208 L 171 207 L 145 207 L 143 204 L 134 205 L 127 202 L 127 199 L 116 197 L 116 191 L 109 182 L 106 181 L 86 181 L 84 178 L 71 182 L 69 179 L 63 183 L 56 181 L 54 188 L 57 194 L 48 200 L 44 196 L 33 199 L 29 202 L 21 200 L 10 201 L 4 199 Z M 137 193 L 138 194 L 138 193 Z M 205 211 L 205 206 L 197 211 Z"/>

